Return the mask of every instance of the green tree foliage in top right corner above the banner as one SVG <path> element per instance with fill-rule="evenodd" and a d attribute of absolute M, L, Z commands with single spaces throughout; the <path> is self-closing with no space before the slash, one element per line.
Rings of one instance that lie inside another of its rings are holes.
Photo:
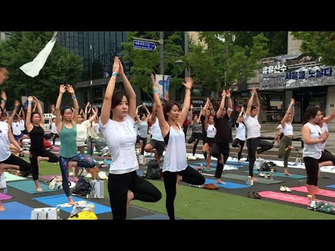
<path fill-rule="evenodd" d="M 325 66 L 335 66 L 335 31 L 292 31 L 292 35 L 301 40 L 301 52 L 321 57 Z"/>

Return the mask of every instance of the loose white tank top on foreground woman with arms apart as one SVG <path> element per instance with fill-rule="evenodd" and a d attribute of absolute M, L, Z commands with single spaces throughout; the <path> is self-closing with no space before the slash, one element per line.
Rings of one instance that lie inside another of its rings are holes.
<path fill-rule="evenodd" d="M 163 172 L 180 172 L 187 167 L 186 159 L 186 144 L 184 131 L 179 128 L 179 131 L 174 130 L 170 126 L 170 135 L 168 146 L 166 147 Z"/>

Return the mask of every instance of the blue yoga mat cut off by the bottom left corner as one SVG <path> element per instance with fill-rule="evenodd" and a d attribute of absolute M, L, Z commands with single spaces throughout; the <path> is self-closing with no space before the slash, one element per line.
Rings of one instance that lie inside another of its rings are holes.
<path fill-rule="evenodd" d="M 34 209 L 16 201 L 3 203 L 3 206 L 6 211 L 0 212 L 0 220 L 30 220 Z"/>

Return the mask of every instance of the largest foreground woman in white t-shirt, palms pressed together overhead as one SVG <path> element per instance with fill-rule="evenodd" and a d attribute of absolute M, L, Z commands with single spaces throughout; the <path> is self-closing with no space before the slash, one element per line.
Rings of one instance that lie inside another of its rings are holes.
<path fill-rule="evenodd" d="M 126 94 L 114 91 L 118 75 L 124 83 Z M 121 61 L 116 56 L 99 122 L 112 155 L 108 192 L 113 220 L 126 219 L 127 207 L 132 199 L 156 202 L 162 197 L 161 192 L 154 185 L 136 174 L 138 163 L 135 153 L 136 134 L 133 119 L 135 110 L 135 91 L 124 74 Z"/>

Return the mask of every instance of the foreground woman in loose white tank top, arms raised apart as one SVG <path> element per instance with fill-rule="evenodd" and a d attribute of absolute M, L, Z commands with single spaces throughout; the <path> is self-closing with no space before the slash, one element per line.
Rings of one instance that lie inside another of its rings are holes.
<path fill-rule="evenodd" d="M 186 78 L 184 106 L 181 112 L 179 104 L 170 100 L 165 102 L 164 107 L 162 107 L 156 79 L 152 74 L 151 83 L 159 127 L 164 142 L 168 145 L 163 162 L 165 205 L 170 220 L 174 220 L 174 198 L 177 194 L 178 181 L 184 181 L 192 185 L 202 185 L 205 181 L 202 174 L 187 164 L 185 134 L 182 128 L 190 108 L 193 79 L 191 77 Z"/>

